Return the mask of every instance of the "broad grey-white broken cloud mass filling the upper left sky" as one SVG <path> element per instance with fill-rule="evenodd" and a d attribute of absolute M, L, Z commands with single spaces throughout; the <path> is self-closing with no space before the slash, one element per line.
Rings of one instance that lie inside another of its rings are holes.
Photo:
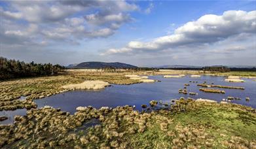
<path fill-rule="evenodd" d="M 109 37 L 132 20 L 139 7 L 126 1 L 3 1 L 0 7 L 0 40 L 79 41 Z M 97 11 L 95 11 L 97 10 Z M 94 12 L 94 13 L 92 13 Z M 90 14 L 88 14 L 90 13 Z"/>

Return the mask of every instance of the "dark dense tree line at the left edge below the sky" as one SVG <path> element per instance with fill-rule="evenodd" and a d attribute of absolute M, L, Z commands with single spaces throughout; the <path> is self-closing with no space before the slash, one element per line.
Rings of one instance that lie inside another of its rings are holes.
<path fill-rule="evenodd" d="M 28 76 L 50 76 L 58 74 L 65 69 L 61 65 L 52 65 L 50 63 L 25 63 L 0 57 L 0 80 L 9 78 L 22 78 Z"/>

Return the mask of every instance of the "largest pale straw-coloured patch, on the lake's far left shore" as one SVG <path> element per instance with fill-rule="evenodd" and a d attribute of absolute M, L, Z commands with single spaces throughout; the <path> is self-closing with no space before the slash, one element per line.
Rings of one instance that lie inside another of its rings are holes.
<path fill-rule="evenodd" d="M 103 89 L 106 86 L 109 86 L 108 82 L 104 82 L 101 80 L 88 80 L 88 81 L 84 81 L 80 84 L 68 84 L 65 86 L 62 86 L 62 88 L 64 89 L 77 89 L 77 90 L 99 90 L 99 89 Z"/>

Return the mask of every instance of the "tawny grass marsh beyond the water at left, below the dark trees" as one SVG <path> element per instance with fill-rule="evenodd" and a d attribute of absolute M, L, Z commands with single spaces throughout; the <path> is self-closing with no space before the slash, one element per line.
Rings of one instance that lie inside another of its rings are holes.
<path fill-rule="evenodd" d="M 65 72 L 58 76 L 44 76 L 36 78 L 20 78 L 0 82 L 0 110 L 15 110 L 16 108 L 35 108 L 33 99 L 55 95 L 68 91 L 62 86 L 78 84 L 85 80 L 103 80 L 111 84 L 134 84 L 139 80 L 132 80 L 120 73 L 95 72 Z M 26 100 L 19 100 L 25 96 Z"/>

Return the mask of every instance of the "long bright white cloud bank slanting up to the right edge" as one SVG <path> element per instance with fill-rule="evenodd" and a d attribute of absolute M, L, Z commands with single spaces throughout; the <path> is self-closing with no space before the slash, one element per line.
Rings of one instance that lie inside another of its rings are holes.
<path fill-rule="evenodd" d="M 103 55 L 161 51 L 181 46 L 189 48 L 191 45 L 212 44 L 243 33 L 256 33 L 256 10 L 229 10 L 221 16 L 206 14 L 178 27 L 172 35 L 158 37 L 151 42 L 131 41 L 124 48 L 111 48 Z"/>

